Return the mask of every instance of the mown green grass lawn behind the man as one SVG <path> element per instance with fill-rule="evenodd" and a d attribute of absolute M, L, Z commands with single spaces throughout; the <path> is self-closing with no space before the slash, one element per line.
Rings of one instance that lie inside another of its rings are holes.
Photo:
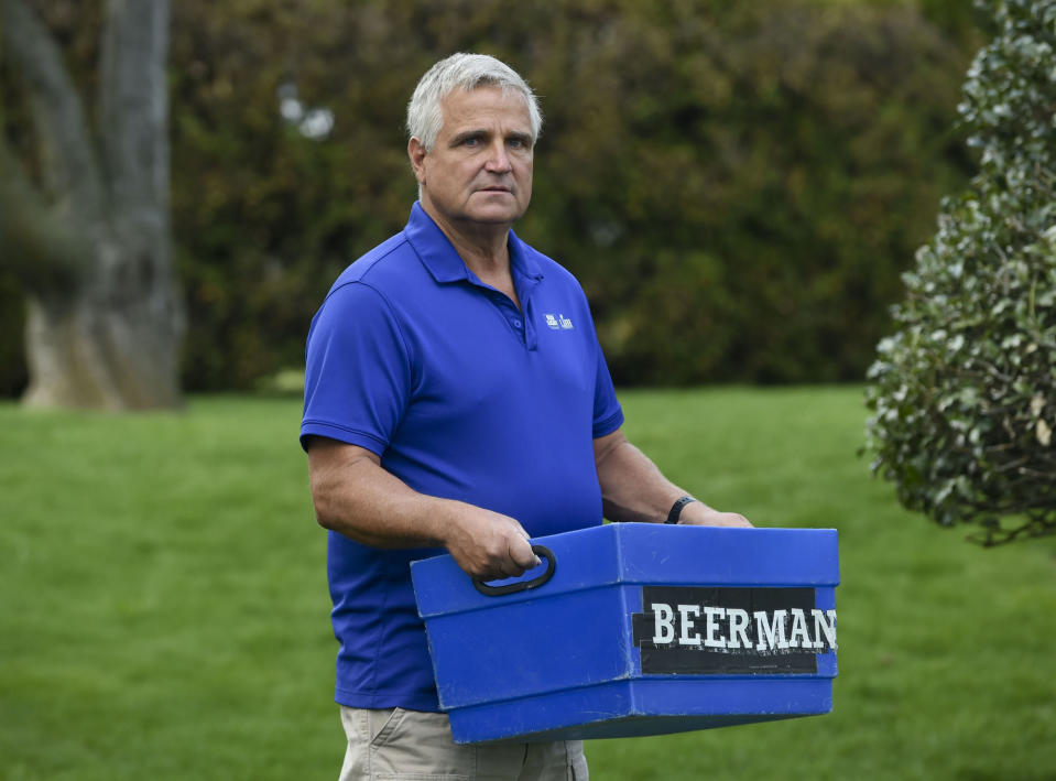
<path fill-rule="evenodd" d="M 1056 778 L 1056 541 L 983 550 L 856 456 L 857 388 L 624 391 L 677 482 L 835 527 L 827 716 L 594 741 L 595 779 Z M 0 779 L 334 779 L 325 534 L 300 403 L 0 405 Z"/>

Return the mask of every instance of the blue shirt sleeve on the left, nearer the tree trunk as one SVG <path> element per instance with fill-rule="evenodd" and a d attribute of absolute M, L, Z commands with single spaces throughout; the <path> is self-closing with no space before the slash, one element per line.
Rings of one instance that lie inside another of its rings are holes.
<path fill-rule="evenodd" d="M 305 361 L 301 446 L 326 436 L 381 456 L 410 399 L 410 350 L 385 299 L 351 282 L 312 321 Z"/>

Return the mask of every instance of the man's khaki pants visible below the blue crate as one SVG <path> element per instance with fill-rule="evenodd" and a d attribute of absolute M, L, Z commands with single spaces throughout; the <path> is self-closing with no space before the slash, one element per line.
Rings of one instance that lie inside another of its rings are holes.
<path fill-rule="evenodd" d="M 446 714 L 341 707 L 340 781 L 586 781 L 583 741 L 458 746 Z"/>

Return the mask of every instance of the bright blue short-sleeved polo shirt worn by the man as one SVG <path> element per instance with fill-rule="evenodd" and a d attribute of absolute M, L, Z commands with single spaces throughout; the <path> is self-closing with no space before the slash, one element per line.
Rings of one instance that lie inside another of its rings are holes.
<path fill-rule="evenodd" d="M 346 269 L 308 333 L 302 445 L 366 447 L 411 488 L 511 516 L 532 536 L 597 525 L 594 440 L 623 414 L 587 300 L 513 231 L 509 249 L 520 310 L 420 204 Z M 329 532 L 337 702 L 439 709 L 410 562 L 443 552 Z"/>

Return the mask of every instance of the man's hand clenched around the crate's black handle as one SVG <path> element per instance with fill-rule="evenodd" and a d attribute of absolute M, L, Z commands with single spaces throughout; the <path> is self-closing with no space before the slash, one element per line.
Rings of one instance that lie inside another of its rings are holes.
<path fill-rule="evenodd" d="M 445 528 L 444 546 L 471 577 L 516 577 L 541 563 L 527 532 L 509 516 L 456 502 Z"/>

